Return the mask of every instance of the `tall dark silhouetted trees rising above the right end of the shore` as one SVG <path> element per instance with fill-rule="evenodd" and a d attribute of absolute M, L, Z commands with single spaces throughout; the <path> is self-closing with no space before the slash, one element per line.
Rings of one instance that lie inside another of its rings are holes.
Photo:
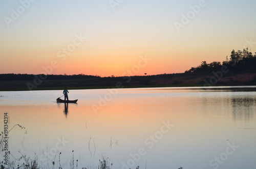
<path fill-rule="evenodd" d="M 227 66 L 230 73 L 245 73 L 256 71 L 256 52 L 254 55 L 248 51 L 248 48 L 243 51 L 231 51 L 230 56 L 226 57 L 226 60 L 221 62 L 207 63 L 202 61 L 197 67 L 191 67 L 186 70 L 185 73 L 212 73 L 212 71 L 218 71 L 222 66 Z"/>

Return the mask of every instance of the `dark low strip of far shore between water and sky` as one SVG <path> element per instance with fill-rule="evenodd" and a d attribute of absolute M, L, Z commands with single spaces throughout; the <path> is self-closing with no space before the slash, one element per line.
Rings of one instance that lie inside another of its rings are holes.
<path fill-rule="evenodd" d="M 3 75 L 3 74 L 2 74 Z M 1 74 L 0 74 L 1 76 Z M 47 75 L 45 80 L 34 79 L 42 75 L 15 76 L 0 80 L 0 91 L 106 89 L 106 88 L 148 88 L 148 87 L 203 87 L 203 86 L 254 86 L 256 72 L 223 74 L 221 78 L 213 74 L 182 73 L 133 77 L 90 77 Z M 19 77 L 20 76 L 20 77 Z M 55 78 L 55 79 L 54 79 Z"/>

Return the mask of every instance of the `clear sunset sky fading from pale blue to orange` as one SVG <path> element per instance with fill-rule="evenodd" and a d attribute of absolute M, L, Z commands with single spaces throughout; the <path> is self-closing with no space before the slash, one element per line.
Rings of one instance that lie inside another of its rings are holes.
<path fill-rule="evenodd" d="M 183 73 L 256 52 L 256 1 L 0 1 L 0 74 Z"/>

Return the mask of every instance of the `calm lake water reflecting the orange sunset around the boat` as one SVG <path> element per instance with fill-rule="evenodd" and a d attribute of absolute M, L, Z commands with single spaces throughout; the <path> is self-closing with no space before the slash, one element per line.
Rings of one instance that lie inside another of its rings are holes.
<path fill-rule="evenodd" d="M 112 168 L 256 168 L 255 87 L 0 92 L 9 115 L 10 160 L 78 168 L 108 157 Z M 20 151 L 20 153 L 18 153 Z M 72 153 L 72 151 L 74 151 Z M 3 153 L 1 152 L 2 161 Z M 15 160 L 16 159 L 16 160 Z M 72 163 L 72 162 L 71 162 Z"/>

